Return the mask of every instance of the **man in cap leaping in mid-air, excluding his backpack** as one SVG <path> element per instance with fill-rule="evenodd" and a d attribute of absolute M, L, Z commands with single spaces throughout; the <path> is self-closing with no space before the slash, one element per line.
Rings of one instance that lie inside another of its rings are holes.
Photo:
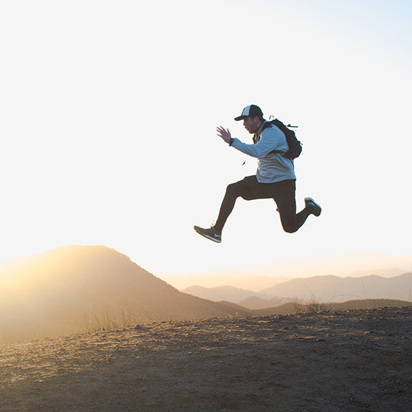
<path fill-rule="evenodd" d="M 255 175 L 227 186 L 214 226 L 207 229 L 195 226 L 194 230 L 205 238 L 220 243 L 223 227 L 239 196 L 245 201 L 273 198 L 282 227 L 288 233 L 297 231 L 310 214 L 319 216 L 321 207 L 312 198 L 305 198 L 305 208 L 296 213 L 295 168 L 293 160 L 283 156 L 288 150 L 288 144 L 282 130 L 274 124 L 265 128 L 266 120 L 262 110 L 255 104 L 245 107 L 235 120 L 243 120 L 244 128 L 253 135 L 253 144 L 245 144 L 231 137 L 229 130 L 222 126 L 217 128 L 218 136 L 229 146 L 258 158 L 258 170 Z"/>

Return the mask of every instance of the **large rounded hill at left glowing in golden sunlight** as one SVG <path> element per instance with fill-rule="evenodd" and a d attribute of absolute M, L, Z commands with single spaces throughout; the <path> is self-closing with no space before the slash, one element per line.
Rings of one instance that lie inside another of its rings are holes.
<path fill-rule="evenodd" d="M 62 247 L 0 271 L 2 342 L 236 312 L 181 293 L 126 255 L 104 246 Z"/>

